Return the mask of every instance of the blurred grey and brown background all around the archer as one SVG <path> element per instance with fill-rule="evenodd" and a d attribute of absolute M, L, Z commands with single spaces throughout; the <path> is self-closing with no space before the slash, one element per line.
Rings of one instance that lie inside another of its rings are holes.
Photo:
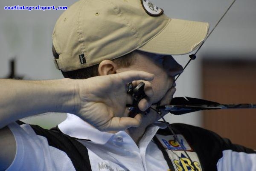
<path fill-rule="evenodd" d="M 169 17 L 209 22 L 210 30 L 232 1 L 151 0 L 163 8 Z M 24 76 L 25 80 L 62 78 L 52 62 L 51 34 L 55 21 L 63 11 L 4 10 L 4 6 L 70 6 L 74 2 L 75 0 L 0 1 L 0 78 L 9 75 L 9 62 L 13 58 L 16 60 L 16 74 Z M 256 80 L 255 9 L 255 0 L 238 0 L 234 4 L 199 51 L 197 59 L 192 61 L 177 80 L 176 97 L 207 98 L 220 103 L 256 103 L 256 84 L 250 81 Z M 189 57 L 182 55 L 175 59 L 184 66 Z M 244 85 L 250 85 L 251 89 Z M 232 91 L 228 91 L 231 89 Z M 256 140 L 253 139 L 256 137 L 256 110 L 220 111 L 222 114 L 216 112 L 219 111 L 204 114 L 195 112 L 183 116 L 169 114 L 166 120 L 170 123 L 188 123 L 209 128 L 224 137 L 231 136 L 230 139 L 236 143 L 256 149 Z M 23 121 L 51 128 L 65 117 L 65 114 L 43 114 Z"/>

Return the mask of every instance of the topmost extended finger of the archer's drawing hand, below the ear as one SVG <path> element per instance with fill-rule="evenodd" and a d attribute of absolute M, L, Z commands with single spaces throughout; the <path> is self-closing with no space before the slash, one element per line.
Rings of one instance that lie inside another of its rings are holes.
<path fill-rule="evenodd" d="M 125 83 L 132 82 L 134 80 L 146 80 L 150 81 L 154 79 L 154 74 L 150 74 L 144 71 L 125 71 L 118 73 Z"/>

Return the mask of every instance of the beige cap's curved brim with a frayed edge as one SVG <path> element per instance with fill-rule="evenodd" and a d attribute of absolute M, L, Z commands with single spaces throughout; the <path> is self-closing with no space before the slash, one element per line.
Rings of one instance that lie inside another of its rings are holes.
<path fill-rule="evenodd" d="M 171 19 L 163 31 L 138 50 L 155 54 L 188 54 L 201 45 L 208 30 L 208 23 Z"/>

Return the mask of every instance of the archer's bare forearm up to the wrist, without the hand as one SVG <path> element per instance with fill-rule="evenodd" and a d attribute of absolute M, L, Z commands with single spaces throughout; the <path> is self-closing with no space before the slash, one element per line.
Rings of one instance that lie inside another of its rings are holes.
<path fill-rule="evenodd" d="M 73 80 L 20 81 L 0 79 L 0 128 L 45 112 L 72 112 Z"/>

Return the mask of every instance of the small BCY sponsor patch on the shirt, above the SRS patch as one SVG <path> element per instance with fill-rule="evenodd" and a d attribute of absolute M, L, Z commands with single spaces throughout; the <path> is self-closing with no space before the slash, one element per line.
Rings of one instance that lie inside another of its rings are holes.
<path fill-rule="evenodd" d="M 178 137 L 180 143 L 175 141 L 175 138 L 173 135 L 164 136 L 164 135 L 157 134 L 156 136 L 157 136 L 157 139 L 163 145 L 163 147 L 168 150 L 193 151 L 192 148 L 190 147 L 190 145 L 188 144 L 188 142 L 186 141 L 186 139 L 180 134 L 177 134 L 177 137 Z"/>

